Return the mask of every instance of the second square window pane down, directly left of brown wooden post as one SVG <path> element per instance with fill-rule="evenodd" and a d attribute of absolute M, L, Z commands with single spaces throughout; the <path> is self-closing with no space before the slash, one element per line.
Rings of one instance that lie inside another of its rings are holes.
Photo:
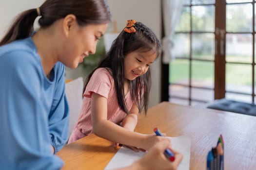
<path fill-rule="evenodd" d="M 192 58 L 214 60 L 214 38 L 212 33 L 192 34 Z"/>

